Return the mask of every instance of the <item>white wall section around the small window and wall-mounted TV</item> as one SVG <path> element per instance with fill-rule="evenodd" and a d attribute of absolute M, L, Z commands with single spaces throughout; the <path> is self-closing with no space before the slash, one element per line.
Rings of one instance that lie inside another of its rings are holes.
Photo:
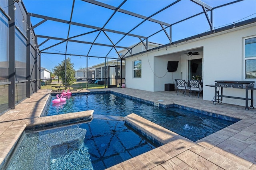
<path fill-rule="evenodd" d="M 126 87 L 146 91 L 164 91 L 164 84 L 175 84 L 174 79 L 180 79 L 181 72 L 182 78 L 186 79 L 188 65 L 187 59 L 202 58 L 202 53 L 201 55 L 193 55 L 192 57 L 183 55 L 184 52 L 181 53 L 182 55 L 177 54 L 180 51 L 184 51 L 184 48 L 187 50 L 191 49 L 192 47 L 185 44 L 177 47 L 170 47 L 167 50 L 166 48 L 162 48 L 159 49 L 159 51 L 156 50 L 146 54 L 144 53 L 143 55 L 138 56 L 138 58 L 135 56 L 126 59 Z M 136 60 L 142 61 L 141 78 L 133 78 L 133 61 Z M 177 71 L 168 72 L 168 61 L 179 61 Z M 154 70 L 154 72 L 152 70 Z"/>

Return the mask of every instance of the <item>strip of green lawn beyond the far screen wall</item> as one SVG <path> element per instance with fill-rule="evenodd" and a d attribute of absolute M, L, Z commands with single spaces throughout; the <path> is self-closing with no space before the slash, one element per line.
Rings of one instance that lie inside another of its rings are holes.
<path fill-rule="evenodd" d="M 56 87 L 52 87 L 52 86 L 59 86 L 61 83 L 51 83 L 50 85 L 43 85 L 41 86 L 41 89 L 53 89 L 53 90 L 58 90 L 58 88 Z M 83 89 L 86 89 L 86 84 L 85 82 L 76 82 L 74 83 L 73 85 L 78 85 L 78 86 L 82 86 Z M 89 83 L 88 84 L 88 89 L 102 89 L 104 88 L 105 86 L 104 85 L 97 85 L 97 84 L 94 84 L 94 83 Z M 106 86 L 107 87 L 107 86 Z M 60 87 L 60 89 L 65 89 L 65 87 Z M 70 87 L 70 89 L 80 89 L 80 87 Z"/>

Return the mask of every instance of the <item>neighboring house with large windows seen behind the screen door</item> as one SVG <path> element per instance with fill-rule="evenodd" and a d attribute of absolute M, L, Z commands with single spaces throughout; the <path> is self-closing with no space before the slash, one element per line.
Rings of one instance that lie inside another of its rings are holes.
<path fill-rule="evenodd" d="M 121 82 L 121 61 L 111 60 L 106 62 L 106 69 L 105 69 L 105 62 L 93 65 L 92 67 L 95 68 L 95 79 L 108 81 L 108 85 L 118 85 Z M 122 61 L 122 78 L 125 77 L 125 62 Z M 107 80 L 108 79 L 108 80 Z M 117 81 L 117 84 L 116 84 Z"/>

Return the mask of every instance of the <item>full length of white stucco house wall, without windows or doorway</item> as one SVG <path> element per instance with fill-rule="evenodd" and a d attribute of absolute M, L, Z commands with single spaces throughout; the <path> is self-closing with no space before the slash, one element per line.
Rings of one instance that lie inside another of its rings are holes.
<path fill-rule="evenodd" d="M 250 27 L 244 26 L 243 29 L 241 28 L 234 28 L 226 31 L 226 33 L 218 33 L 219 35 L 212 34 L 208 38 L 202 37 L 191 42 L 179 43 L 177 46 L 172 45 L 167 50 L 162 48 L 159 51 L 149 51 L 143 55 L 127 58 L 126 87 L 146 91 L 164 91 L 165 83 L 175 84 L 174 79 L 178 78 L 187 80 L 188 59 L 203 58 L 203 99 L 211 101 L 214 97 L 214 88 L 205 85 L 214 84 L 215 80 L 245 80 L 243 38 L 256 36 L 256 23 L 251 24 Z M 197 51 L 200 55 L 188 57 L 182 52 L 189 49 L 191 51 L 196 48 L 201 49 L 201 47 L 203 47 L 203 50 Z M 142 78 L 133 78 L 133 61 L 135 60 L 142 60 Z M 176 72 L 167 72 L 168 61 L 179 61 Z M 165 73 L 166 75 L 164 76 Z M 255 81 L 254 84 L 256 85 L 256 79 L 246 80 Z M 245 97 L 245 90 L 224 88 L 223 94 Z M 254 96 L 256 96 L 256 90 L 254 91 Z M 244 106 L 245 100 L 223 98 L 223 103 Z"/>

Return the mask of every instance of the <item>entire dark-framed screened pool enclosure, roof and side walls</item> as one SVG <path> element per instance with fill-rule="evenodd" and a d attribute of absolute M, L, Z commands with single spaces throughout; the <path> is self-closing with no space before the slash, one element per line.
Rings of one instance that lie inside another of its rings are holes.
<path fill-rule="evenodd" d="M 254 5 L 251 0 L 1 0 L 0 113 L 38 92 L 41 67 L 52 70 L 71 58 L 76 79 L 88 84 L 97 78 L 117 87 L 124 82 L 127 57 L 255 22 Z"/>

